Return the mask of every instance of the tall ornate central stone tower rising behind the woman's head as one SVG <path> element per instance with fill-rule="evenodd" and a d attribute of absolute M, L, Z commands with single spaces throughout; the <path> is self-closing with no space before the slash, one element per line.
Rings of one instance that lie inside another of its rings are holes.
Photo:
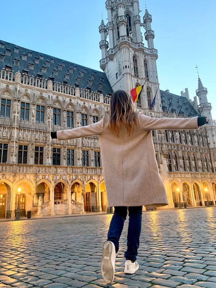
<path fill-rule="evenodd" d="M 141 23 L 138 0 L 107 0 L 106 9 L 108 23 L 105 25 L 102 20 L 99 26 L 102 51 L 100 67 L 114 91 L 123 89 L 130 93 L 132 88 L 143 85 L 146 81 L 137 106 L 149 109 L 159 85 L 156 66 L 158 55 L 151 28 L 152 15 L 146 9 Z M 148 48 L 143 44 L 141 27 L 146 30 Z M 162 111 L 159 89 L 152 110 Z"/>

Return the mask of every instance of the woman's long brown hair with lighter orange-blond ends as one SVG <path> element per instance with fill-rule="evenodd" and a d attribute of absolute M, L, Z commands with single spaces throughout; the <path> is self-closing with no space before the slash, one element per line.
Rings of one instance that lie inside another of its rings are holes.
<path fill-rule="evenodd" d="M 117 90 L 111 96 L 110 103 L 110 131 L 119 137 L 120 123 L 127 128 L 127 134 L 130 136 L 133 132 L 133 124 L 137 125 L 137 113 L 130 95 L 124 90 Z"/>

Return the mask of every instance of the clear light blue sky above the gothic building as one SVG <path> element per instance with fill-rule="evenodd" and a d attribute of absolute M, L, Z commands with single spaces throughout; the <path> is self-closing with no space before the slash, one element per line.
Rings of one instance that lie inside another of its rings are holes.
<path fill-rule="evenodd" d="M 216 2 L 146 2 L 158 49 L 160 89 L 180 95 L 187 87 L 193 100 L 198 65 L 201 81 L 208 89 L 208 102 L 212 103 L 212 118 L 216 119 Z M 140 10 L 142 19 L 144 0 Z M 107 23 L 105 0 L 3 1 L 0 39 L 100 70 L 98 27 L 102 12 Z"/>

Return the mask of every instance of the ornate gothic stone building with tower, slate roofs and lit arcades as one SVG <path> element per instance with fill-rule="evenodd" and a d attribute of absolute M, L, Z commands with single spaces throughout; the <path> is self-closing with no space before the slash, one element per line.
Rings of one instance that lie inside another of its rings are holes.
<path fill-rule="evenodd" d="M 99 26 L 104 72 L 0 40 L 1 217 L 14 216 L 18 199 L 22 213 L 107 211 L 99 137 L 56 141 L 50 131 L 99 121 L 113 91 L 130 92 L 145 81 L 137 111 L 210 119 L 199 130 L 152 131 L 166 208 L 216 205 L 216 126 L 207 89 L 198 78 L 193 101 L 187 89 L 181 96 L 159 90 L 152 16 L 145 10 L 141 22 L 138 0 L 108 0 L 106 9 L 108 23 Z"/>

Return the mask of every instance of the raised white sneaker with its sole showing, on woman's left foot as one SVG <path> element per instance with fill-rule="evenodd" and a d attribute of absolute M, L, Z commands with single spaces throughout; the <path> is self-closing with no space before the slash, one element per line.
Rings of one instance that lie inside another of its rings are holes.
<path fill-rule="evenodd" d="M 106 241 L 103 244 L 103 256 L 101 262 L 101 274 L 103 280 L 110 284 L 113 282 L 115 274 L 115 245 L 111 241 Z"/>

